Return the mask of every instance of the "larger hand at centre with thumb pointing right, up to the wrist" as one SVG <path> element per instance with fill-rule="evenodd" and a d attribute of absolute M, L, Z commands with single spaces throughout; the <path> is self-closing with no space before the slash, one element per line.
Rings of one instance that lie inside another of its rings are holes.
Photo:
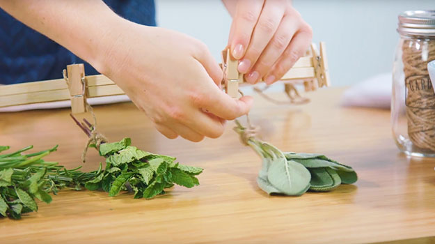
<path fill-rule="evenodd" d="M 252 98 L 220 89 L 223 76 L 207 47 L 182 33 L 123 22 L 100 40 L 97 70 L 116 82 L 159 132 L 193 142 L 222 135 L 225 120 L 248 113 Z M 207 112 L 204 112 L 207 111 Z"/>

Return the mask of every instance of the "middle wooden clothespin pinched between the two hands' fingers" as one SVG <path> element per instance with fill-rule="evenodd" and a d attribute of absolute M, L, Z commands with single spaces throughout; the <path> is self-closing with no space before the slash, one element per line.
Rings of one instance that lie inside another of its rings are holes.
<path fill-rule="evenodd" d="M 231 98 L 239 97 L 239 82 L 243 82 L 243 74 L 237 70 L 238 64 L 239 61 L 231 55 L 229 48 L 222 51 L 223 86 Z"/>

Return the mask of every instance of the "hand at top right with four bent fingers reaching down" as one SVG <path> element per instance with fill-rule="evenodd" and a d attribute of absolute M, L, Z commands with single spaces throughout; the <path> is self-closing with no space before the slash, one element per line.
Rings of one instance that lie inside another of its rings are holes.
<path fill-rule="evenodd" d="M 232 15 L 228 46 L 246 82 L 279 80 L 305 54 L 311 27 L 289 0 L 223 0 Z"/>

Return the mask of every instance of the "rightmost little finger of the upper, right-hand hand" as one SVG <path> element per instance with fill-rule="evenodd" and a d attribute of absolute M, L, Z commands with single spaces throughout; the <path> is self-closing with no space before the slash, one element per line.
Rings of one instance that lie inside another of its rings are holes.
<path fill-rule="evenodd" d="M 290 41 L 290 45 L 285 49 L 283 55 L 274 64 L 269 74 L 265 77 L 267 84 L 276 82 L 287 73 L 296 61 L 305 54 L 313 38 L 313 32 L 308 24 L 304 24 Z"/>

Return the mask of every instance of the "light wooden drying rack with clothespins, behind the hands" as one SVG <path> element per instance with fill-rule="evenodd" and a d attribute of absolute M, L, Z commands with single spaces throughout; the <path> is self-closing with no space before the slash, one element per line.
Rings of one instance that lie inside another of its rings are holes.
<path fill-rule="evenodd" d="M 239 96 L 239 84 L 244 84 L 243 75 L 237 71 L 238 61 L 232 58 L 229 49 L 223 51 L 223 87 L 232 98 Z M 28 82 L 0 86 L 0 107 L 27 105 L 39 102 L 71 100 L 72 114 L 86 112 L 86 98 L 125 94 L 119 86 L 104 75 L 84 73 L 83 63 L 68 65 L 63 70 L 64 79 Z M 304 81 L 306 90 L 329 86 L 328 63 L 324 43 L 320 43 L 319 55 L 315 45 L 301 57 L 283 77 L 283 81 Z M 317 85 L 315 85 L 317 80 Z M 307 89 L 307 84 L 310 89 Z"/>

